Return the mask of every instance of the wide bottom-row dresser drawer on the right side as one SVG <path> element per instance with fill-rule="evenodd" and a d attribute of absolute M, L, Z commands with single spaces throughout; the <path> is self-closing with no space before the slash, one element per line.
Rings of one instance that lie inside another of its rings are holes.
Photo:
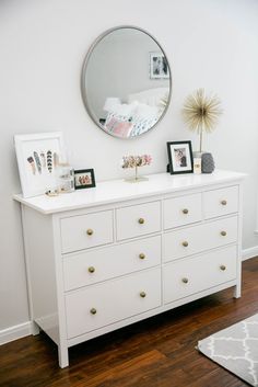
<path fill-rule="evenodd" d="M 227 247 L 163 268 L 164 303 L 191 296 L 236 278 L 236 247 Z"/>

